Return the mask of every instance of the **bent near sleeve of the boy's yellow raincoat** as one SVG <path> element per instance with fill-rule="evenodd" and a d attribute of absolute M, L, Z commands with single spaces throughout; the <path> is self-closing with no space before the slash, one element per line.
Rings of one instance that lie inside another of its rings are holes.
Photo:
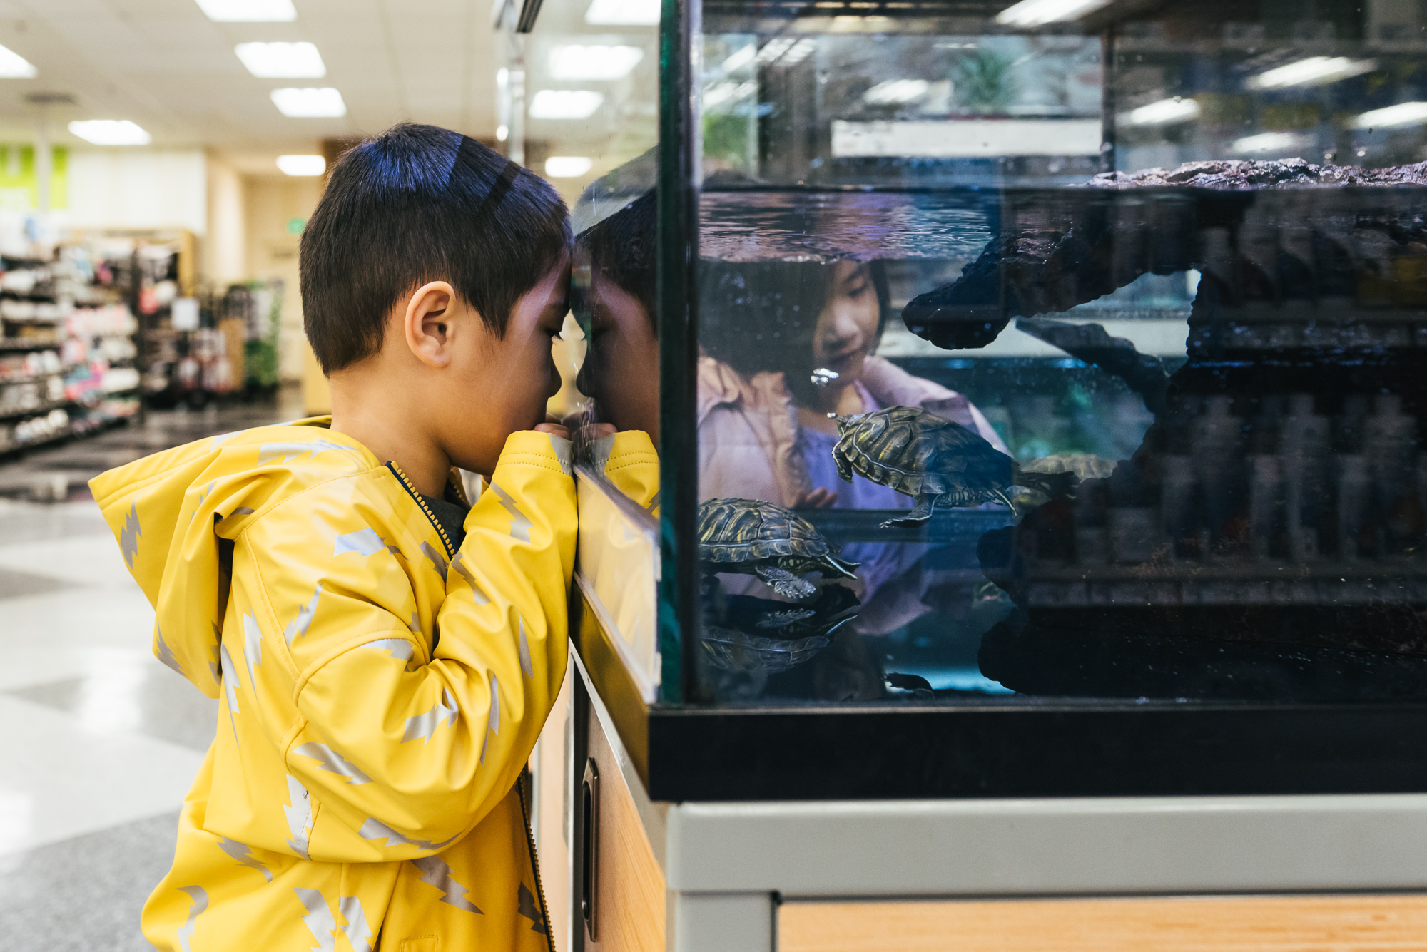
<path fill-rule="evenodd" d="M 374 855 L 320 855 L 318 818 L 314 859 L 441 851 L 515 784 L 565 674 L 575 549 L 568 460 L 567 440 L 512 435 L 450 563 L 430 544 L 397 553 L 375 532 L 352 537 L 345 533 L 362 530 L 338 526 L 308 628 L 284 636 L 301 720 L 274 740 L 288 772 Z M 352 512 L 360 506 L 348 519 Z M 421 619 L 412 580 L 395 577 L 407 573 L 445 586 L 444 600 L 431 600 L 441 604 L 435 619 Z M 412 637 L 427 624 L 430 658 L 425 640 Z"/>

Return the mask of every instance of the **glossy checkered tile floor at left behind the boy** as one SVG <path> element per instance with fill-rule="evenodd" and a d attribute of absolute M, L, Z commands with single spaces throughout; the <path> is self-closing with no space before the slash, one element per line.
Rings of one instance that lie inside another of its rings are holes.
<path fill-rule="evenodd" d="M 293 416 L 154 413 L 0 467 L 0 952 L 151 948 L 138 911 L 217 723 L 217 701 L 154 658 L 153 610 L 84 480 Z"/>

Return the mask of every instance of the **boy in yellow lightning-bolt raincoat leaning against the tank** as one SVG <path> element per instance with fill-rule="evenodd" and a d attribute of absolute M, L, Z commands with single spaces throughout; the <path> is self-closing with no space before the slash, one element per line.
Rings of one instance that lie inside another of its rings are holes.
<path fill-rule="evenodd" d="M 568 248 L 547 182 L 398 125 L 303 235 L 332 416 L 91 483 L 154 653 L 223 697 L 157 948 L 548 948 L 518 778 L 565 673 L 575 492 L 541 420 Z M 469 512 L 452 466 L 487 477 Z"/>

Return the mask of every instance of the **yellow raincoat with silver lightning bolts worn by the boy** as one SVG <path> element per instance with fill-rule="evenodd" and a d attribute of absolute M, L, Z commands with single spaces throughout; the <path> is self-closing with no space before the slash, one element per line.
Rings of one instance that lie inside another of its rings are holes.
<path fill-rule="evenodd" d="M 144 935 L 183 952 L 549 948 L 517 781 L 565 673 L 569 445 L 511 435 L 452 550 L 400 469 L 327 425 L 204 439 L 91 483 L 157 613 L 154 653 L 223 697 Z"/>

